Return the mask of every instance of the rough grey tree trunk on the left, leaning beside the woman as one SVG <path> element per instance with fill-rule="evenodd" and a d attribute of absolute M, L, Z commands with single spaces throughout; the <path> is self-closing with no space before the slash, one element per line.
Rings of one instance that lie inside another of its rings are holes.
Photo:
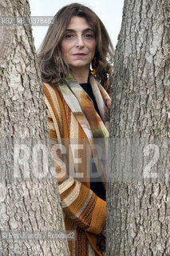
<path fill-rule="evenodd" d="M 1 0 L 0 16 L 28 17 L 29 3 Z M 32 33 L 30 26 L 9 22 L 0 26 L 0 254 L 65 256 L 69 249 Z"/>

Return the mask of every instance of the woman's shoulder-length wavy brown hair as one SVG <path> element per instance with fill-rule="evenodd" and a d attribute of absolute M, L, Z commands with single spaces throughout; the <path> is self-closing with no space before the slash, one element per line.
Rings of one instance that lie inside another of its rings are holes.
<path fill-rule="evenodd" d="M 62 58 L 61 39 L 65 34 L 70 19 L 75 16 L 85 18 L 89 25 L 93 27 L 97 40 L 95 54 L 97 70 L 95 77 L 106 90 L 109 90 L 113 74 L 114 50 L 112 42 L 104 24 L 97 17 L 97 14 L 79 3 L 73 3 L 61 8 L 54 16 L 53 24 L 49 26 L 42 46 L 38 50 L 42 81 L 57 84 L 57 82 L 61 82 L 61 80 L 68 76 L 69 66 Z"/>

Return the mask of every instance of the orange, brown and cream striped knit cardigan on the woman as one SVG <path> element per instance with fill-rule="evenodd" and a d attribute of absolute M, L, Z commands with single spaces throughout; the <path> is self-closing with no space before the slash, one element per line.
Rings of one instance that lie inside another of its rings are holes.
<path fill-rule="evenodd" d="M 44 83 L 44 94 L 49 137 L 52 142 L 52 151 L 55 151 L 53 152 L 54 161 L 56 143 L 64 144 L 66 150 L 66 152 L 64 151 L 66 154 L 58 153 L 57 150 L 57 156 L 66 163 L 66 172 L 65 166 L 61 166 L 57 162 L 55 162 L 55 167 L 65 217 L 65 230 L 76 230 L 77 234 L 76 241 L 68 241 L 70 254 L 73 256 L 101 256 L 101 251 L 97 246 L 97 234 L 100 234 L 105 226 L 106 202 L 90 190 L 89 162 L 91 151 L 77 150 L 77 158 L 81 158 L 81 163 L 74 163 L 73 158 L 70 158 L 69 150 L 69 142 L 72 140 L 83 143 L 85 147 L 89 146 L 88 140 L 58 87 Z M 71 166 L 77 172 L 85 174 L 85 178 L 81 180 L 81 178 L 71 177 L 69 173 Z"/>

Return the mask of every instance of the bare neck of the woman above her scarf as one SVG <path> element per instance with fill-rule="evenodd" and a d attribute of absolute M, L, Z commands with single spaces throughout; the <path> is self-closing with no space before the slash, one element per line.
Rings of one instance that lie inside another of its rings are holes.
<path fill-rule="evenodd" d="M 89 68 L 87 69 L 70 69 L 70 74 L 76 79 L 78 83 L 86 83 L 89 78 Z"/>

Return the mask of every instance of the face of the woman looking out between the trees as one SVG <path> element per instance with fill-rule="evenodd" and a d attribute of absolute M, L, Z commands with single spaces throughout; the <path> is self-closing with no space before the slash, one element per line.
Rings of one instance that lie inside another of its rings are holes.
<path fill-rule="evenodd" d="M 97 42 L 92 27 L 85 18 L 73 17 L 61 40 L 61 52 L 70 70 L 75 68 L 89 69 Z"/>

